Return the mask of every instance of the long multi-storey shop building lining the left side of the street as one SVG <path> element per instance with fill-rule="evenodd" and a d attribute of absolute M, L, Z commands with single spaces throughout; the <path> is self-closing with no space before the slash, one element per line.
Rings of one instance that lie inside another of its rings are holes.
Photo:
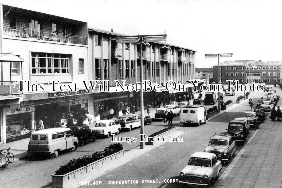
<path fill-rule="evenodd" d="M 28 138 L 40 120 L 45 129 L 51 128 L 57 121 L 66 121 L 68 112 L 74 118 L 89 112 L 96 121 L 105 117 L 110 107 L 116 115 L 126 105 L 134 104 L 138 110 L 138 92 L 116 90 L 114 80 L 126 80 L 125 85 L 140 81 L 140 55 L 144 80 L 162 86 L 156 92 L 144 92 L 145 103 L 154 105 L 156 98 L 165 102 L 171 93 L 179 92 L 167 91 L 163 87 L 166 81 L 183 83 L 188 90 L 191 84 L 187 81 L 195 78 L 194 50 L 143 43 L 140 52 L 138 44 L 116 43 L 114 38 L 122 34 L 14 6 L 0 4 L 0 16 L 0 143 Z M 33 86 L 24 83 L 19 92 L 15 83 L 19 80 Z M 78 92 L 53 88 L 48 84 L 53 80 L 66 85 L 65 89 L 77 84 Z M 87 91 L 83 84 L 87 80 L 108 80 L 109 91 Z"/>

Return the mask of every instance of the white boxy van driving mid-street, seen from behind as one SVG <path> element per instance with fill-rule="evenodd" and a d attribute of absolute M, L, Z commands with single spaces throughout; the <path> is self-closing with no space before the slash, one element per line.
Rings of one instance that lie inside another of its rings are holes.
<path fill-rule="evenodd" d="M 180 123 L 183 125 L 206 123 L 206 107 L 204 105 L 188 105 L 181 108 Z"/>

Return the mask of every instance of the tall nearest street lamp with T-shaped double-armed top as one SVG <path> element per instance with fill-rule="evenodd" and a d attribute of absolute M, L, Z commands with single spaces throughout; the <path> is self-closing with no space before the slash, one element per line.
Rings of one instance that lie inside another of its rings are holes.
<path fill-rule="evenodd" d="M 117 43 L 138 43 L 140 42 L 140 119 L 141 129 L 140 134 L 144 134 L 144 97 L 143 97 L 143 57 L 142 57 L 142 42 L 160 42 L 166 41 L 167 35 L 135 35 L 135 36 L 122 36 L 116 37 Z M 144 141 L 140 142 L 140 149 L 144 149 Z"/>

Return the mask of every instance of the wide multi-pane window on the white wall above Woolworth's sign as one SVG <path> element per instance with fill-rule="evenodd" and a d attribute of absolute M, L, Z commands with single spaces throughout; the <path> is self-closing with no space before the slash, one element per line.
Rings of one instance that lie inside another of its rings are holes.
<path fill-rule="evenodd" d="M 32 74 L 69 73 L 69 55 L 31 52 Z"/>

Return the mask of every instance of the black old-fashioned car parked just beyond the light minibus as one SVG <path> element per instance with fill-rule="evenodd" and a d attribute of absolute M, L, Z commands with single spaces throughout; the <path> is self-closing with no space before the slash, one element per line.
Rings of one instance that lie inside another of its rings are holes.
<path fill-rule="evenodd" d="M 69 126 L 68 128 L 70 128 L 73 132 L 73 135 L 77 137 L 79 146 L 82 146 L 91 140 L 93 141 L 97 140 L 98 135 L 96 131 L 91 131 L 88 125 L 76 124 L 74 126 Z"/>

